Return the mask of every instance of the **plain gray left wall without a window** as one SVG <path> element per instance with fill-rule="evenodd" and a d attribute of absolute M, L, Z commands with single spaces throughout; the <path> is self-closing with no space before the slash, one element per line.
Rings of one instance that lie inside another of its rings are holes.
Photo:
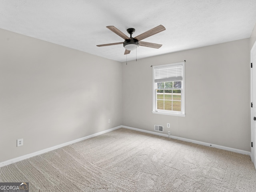
<path fill-rule="evenodd" d="M 0 42 L 0 162 L 122 124 L 120 62 L 2 29 Z"/>

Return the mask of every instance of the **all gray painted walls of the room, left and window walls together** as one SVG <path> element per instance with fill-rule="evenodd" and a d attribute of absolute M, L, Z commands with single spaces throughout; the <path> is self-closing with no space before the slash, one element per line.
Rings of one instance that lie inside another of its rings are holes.
<path fill-rule="evenodd" d="M 120 125 L 250 151 L 254 34 L 126 65 L 0 29 L 0 162 Z M 183 60 L 186 117 L 152 114 L 150 66 Z"/>

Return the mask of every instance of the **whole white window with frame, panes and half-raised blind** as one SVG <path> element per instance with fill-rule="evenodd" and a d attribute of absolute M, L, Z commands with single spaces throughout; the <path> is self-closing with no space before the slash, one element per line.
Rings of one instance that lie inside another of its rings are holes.
<path fill-rule="evenodd" d="M 153 113 L 185 116 L 185 62 L 153 67 Z"/>

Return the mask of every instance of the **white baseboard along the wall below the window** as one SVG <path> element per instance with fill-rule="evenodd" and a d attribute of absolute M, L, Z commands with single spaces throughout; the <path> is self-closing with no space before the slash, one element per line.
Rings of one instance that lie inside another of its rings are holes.
<path fill-rule="evenodd" d="M 164 136 L 164 137 L 168 137 L 168 138 L 172 138 L 172 139 L 177 139 L 177 140 L 181 140 L 181 141 L 191 142 L 191 143 L 195 143 L 195 144 L 200 144 L 200 145 L 204 145 L 204 146 L 214 147 L 214 148 L 218 148 L 218 149 L 223 149 L 223 150 L 232 151 L 232 152 L 236 152 L 236 153 L 240 153 L 240 154 L 245 154 L 245 155 L 250 155 L 251 156 L 251 152 L 250 151 L 244 151 L 244 150 L 240 150 L 240 149 L 235 149 L 235 148 L 225 147 L 225 146 L 221 146 L 221 145 L 210 144 L 210 143 L 206 143 L 206 142 L 196 141 L 196 140 L 192 140 L 192 139 L 186 139 L 186 138 L 182 138 L 182 137 L 176 137 L 176 136 L 172 136 L 172 135 L 169 136 L 167 134 L 162 134 L 162 133 L 157 133 L 157 132 L 153 132 L 153 131 L 142 130 L 142 129 L 128 127 L 128 126 L 121 126 L 121 127 L 122 128 L 126 128 L 126 129 L 136 130 L 136 131 L 140 131 L 140 132 L 144 132 L 144 133 L 149 133 L 149 134 L 154 134 L 154 135 L 158 135 L 158 136 Z"/>

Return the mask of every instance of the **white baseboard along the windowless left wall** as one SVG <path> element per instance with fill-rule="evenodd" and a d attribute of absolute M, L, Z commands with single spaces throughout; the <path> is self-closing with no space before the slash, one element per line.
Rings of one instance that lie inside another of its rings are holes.
<path fill-rule="evenodd" d="M 79 138 L 79 139 L 76 139 L 76 140 L 73 140 L 73 141 L 69 141 L 69 142 L 66 142 L 66 143 L 63 143 L 63 144 L 60 144 L 60 145 L 56 145 L 56 146 L 53 146 L 53 147 L 50 147 L 50 148 L 46 148 L 46 149 L 37 151 L 37 152 L 34 152 L 34 153 L 30 153 L 30 154 L 23 155 L 23 156 L 20 156 L 20 157 L 17 157 L 17 158 L 13 158 L 13 159 L 10 159 L 10 160 L 4 161 L 4 162 L 0 162 L 0 167 L 6 166 L 6 165 L 9 165 L 9 164 L 12 164 L 12 163 L 24 160 L 24 159 L 28 159 L 30 157 L 34 157 L 34 156 L 37 156 L 37 155 L 40 155 L 40 154 L 43 154 L 43 153 L 46 153 L 46 152 L 49 152 L 49 151 L 67 146 L 67 145 L 70 145 L 70 144 L 73 144 L 73 143 L 76 143 L 76 142 L 80 142 L 82 140 L 86 140 L 86 139 L 89 139 L 89 138 L 92 138 L 92 137 L 95 137 L 95 136 L 98 136 L 98 135 L 101 135 L 101 134 L 104 134 L 104 133 L 107 133 L 107 132 L 110 132 L 110 131 L 114 131 L 114 130 L 119 129 L 119 128 L 122 128 L 122 126 L 111 128 L 111 129 L 108 129 L 108 130 L 105 130 L 105 131 L 102 131 L 102 132 L 98 132 L 98 133 L 95 133 L 95 134 L 92 134 L 92 135 L 89 135 L 89 136 L 86 136 L 86 137 L 83 137 L 83 138 Z"/>

